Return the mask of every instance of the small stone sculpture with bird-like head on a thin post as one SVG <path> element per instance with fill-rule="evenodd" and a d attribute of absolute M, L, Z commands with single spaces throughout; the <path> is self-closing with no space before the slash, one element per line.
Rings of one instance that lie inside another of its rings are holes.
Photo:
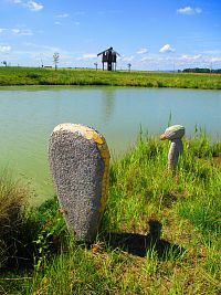
<path fill-rule="evenodd" d="M 181 140 L 183 135 L 185 127 L 181 125 L 170 126 L 160 135 L 160 140 L 169 139 L 171 141 L 168 152 L 168 170 L 173 170 L 176 168 L 179 156 L 183 152 Z"/>

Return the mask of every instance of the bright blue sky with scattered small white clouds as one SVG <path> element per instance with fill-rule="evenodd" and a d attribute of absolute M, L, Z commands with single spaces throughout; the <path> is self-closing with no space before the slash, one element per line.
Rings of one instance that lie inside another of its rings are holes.
<path fill-rule="evenodd" d="M 0 65 L 221 69 L 221 0 L 0 0 Z"/>

